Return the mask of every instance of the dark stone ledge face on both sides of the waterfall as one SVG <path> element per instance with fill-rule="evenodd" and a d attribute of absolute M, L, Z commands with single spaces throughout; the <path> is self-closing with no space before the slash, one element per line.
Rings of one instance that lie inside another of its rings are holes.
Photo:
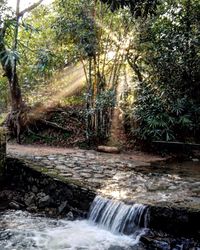
<path fill-rule="evenodd" d="M 70 178 L 62 179 L 56 174 L 51 176 L 41 167 L 28 165 L 22 160 L 7 158 L 8 182 L 14 190 L 22 190 L 28 210 L 54 209 L 55 214 L 73 211 L 80 216 L 86 215 L 98 190 L 91 189 L 85 183 L 75 182 Z M 44 194 L 42 197 L 41 193 Z M 127 200 L 127 203 L 138 202 Z M 31 204 L 33 203 L 33 204 Z M 145 204 L 145 203 L 144 203 Z M 174 235 L 200 237 L 200 209 L 178 207 L 175 204 L 146 204 L 149 210 L 148 227 Z M 78 212 L 77 212 L 78 211 Z"/>

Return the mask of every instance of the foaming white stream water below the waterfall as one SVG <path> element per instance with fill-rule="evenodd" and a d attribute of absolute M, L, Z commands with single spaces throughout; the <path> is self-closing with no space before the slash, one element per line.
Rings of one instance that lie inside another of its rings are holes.
<path fill-rule="evenodd" d="M 113 234 L 87 220 L 57 220 L 22 211 L 0 214 L 1 250 L 142 249 L 138 243 L 141 233 Z"/>

